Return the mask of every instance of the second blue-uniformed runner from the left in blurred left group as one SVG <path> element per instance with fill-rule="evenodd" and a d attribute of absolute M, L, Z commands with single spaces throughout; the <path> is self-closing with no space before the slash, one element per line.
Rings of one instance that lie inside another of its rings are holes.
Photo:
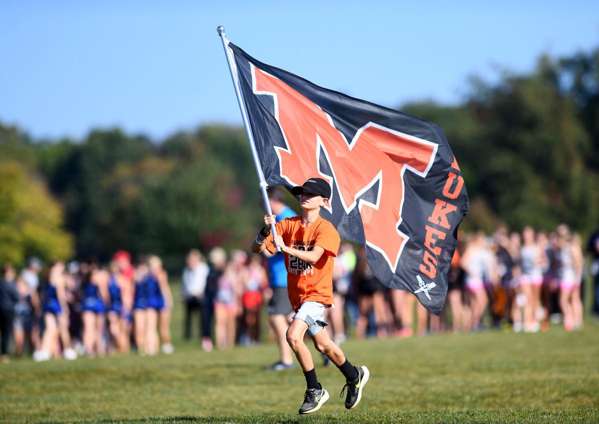
<path fill-rule="evenodd" d="M 104 269 L 93 269 L 83 280 L 83 301 L 81 317 L 83 318 L 83 345 L 89 356 L 103 356 L 106 352 L 104 343 L 105 304 L 108 298 L 108 280 L 110 275 Z"/>

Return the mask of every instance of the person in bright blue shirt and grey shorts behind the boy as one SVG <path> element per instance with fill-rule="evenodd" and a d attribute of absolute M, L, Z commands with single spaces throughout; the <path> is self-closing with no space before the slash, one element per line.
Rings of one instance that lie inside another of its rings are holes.
<path fill-rule="evenodd" d="M 285 192 L 280 187 L 268 188 L 268 202 L 273 214 L 276 216 L 277 222 L 285 218 L 297 216 L 297 213 L 286 205 Z M 280 353 L 280 359 L 273 363 L 273 365 L 265 367 L 265 369 L 282 371 L 283 369 L 294 368 L 291 348 L 289 348 L 286 339 L 286 332 L 291 323 L 294 310 L 291 308 L 289 296 L 287 295 L 285 255 L 271 255 L 267 249 L 264 249 L 262 254 L 267 257 L 268 278 L 270 280 L 270 288 L 273 292 L 273 296 L 270 298 L 270 302 L 268 302 L 268 323 L 273 328 Z"/>

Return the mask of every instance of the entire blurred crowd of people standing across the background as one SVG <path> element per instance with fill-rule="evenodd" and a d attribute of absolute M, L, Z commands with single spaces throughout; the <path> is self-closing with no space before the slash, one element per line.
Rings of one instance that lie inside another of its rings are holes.
<path fill-rule="evenodd" d="M 269 193 L 277 219 L 294 215 L 285 196 Z M 589 243 L 591 272 L 599 273 L 599 236 Z M 581 282 L 585 273 L 580 237 L 567 225 L 547 234 L 526 227 L 509 233 L 500 226 L 487 235 L 459 233 L 447 278 L 446 308 L 429 314 L 412 293 L 381 284 L 368 267 L 364 249 L 340 246 L 333 273 L 335 307 L 326 310 L 326 330 L 340 344 L 347 326 L 356 338 L 398 338 L 434 332 L 469 332 L 501 327 L 515 332 L 546 330 L 551 320 L 567 331 L 583 326 Z M 78 355 L 173 352 L 173 308 L 167 272 L 155 255 L 131 263 L 119 251 L 106 267 L 93 262 L 55 261 L 43 270 L 32 258 L 20 273 L 11 264 L 0 279 L 2 360 L 28 350 L 34 360 Z M 211 249 L 207 259 L 197 249 L 186 257 L 181 297 L 184 338 L 198 320 L 202 348 L 253 345 L 262 339 L 262 309 L 268 305 L 270 338 L 280 358 L 270 369 L 294 366 L 285 331 L 293 311 L 287 297 L 283 255 L 248 255 Z M 194 318 L 194 315 L 197 315 Z M 413 322 L 413 321 L 416 322 Z"/>

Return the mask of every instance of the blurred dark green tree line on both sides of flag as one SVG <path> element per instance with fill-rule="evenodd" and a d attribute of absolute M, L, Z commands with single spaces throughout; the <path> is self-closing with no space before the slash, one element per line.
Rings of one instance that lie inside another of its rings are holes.
<path fill-rule="evenodd" d="M 594 230 L 599 48 L 468 84 L 455 106 L 399 108 L 443 128 L 471 200 L 462 228 Z M 106 260 L 125 248 L 174 265 L 192 247 L 246 246 L 262 213 L 243 128 L 204 125 L 162 142 L 117 128 L 34 140 L 0 122 L 0 262 Z"/>

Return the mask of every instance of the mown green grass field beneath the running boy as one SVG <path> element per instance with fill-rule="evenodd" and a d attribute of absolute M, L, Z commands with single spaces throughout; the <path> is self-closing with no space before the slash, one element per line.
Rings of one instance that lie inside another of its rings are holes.
<path fill-rule="evenodd" d="M 80 358 L 0 366 L 1 422 L 598 423 L 599 324 L 580 332 L 437 335 L 343 344 L 371 379 L 346 411 L 335 367 L 316 360 L 331 399 L 298 416 L 299 368 L 262 371 L 272 344 L 205 353 L 180 341 L 172 356 Z M 316 356 L 315 356 L 316 357 Z"/>

